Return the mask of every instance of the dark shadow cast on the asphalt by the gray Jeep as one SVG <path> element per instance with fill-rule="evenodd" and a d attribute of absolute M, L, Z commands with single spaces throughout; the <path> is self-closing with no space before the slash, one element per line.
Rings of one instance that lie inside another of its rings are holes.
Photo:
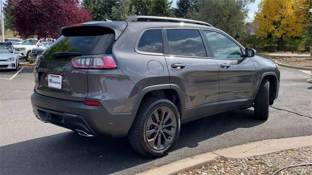
<path fill-rule="evenodd" d="M 234 110 L 184 124 L 172 151 L 263 123 L 253 120 L 253 115 L 251 109 Z M 127 138 L 86 138 L 65 132 L 0 147 L 0 174 L 111 174 L 155 159 L 138 155 Z"/>

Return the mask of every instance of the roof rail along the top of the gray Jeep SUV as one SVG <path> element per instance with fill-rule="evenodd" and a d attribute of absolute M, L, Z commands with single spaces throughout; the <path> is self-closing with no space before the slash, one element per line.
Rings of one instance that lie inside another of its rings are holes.
<path fill-rule="evenodd" d="M 185 22 L 191 24 L 205 25 L 213 27 L 211 24 L 203 21 L 191 20 L 191 19 L 182 19 L 182 18 L 169 18 L 169 17 L 153 17 L 153 16 L 134 16 L 126 19 L 125 21 L 152 21 L 152 22 Z"/>

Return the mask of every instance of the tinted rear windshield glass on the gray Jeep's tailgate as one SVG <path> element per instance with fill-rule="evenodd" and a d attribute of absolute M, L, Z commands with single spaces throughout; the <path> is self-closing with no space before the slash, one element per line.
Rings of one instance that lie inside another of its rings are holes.
<path fill-rule="evenodd" d="M 54 59 L 53 53 L 77 52 L 88 54 L 112 54 L 115 34 L 97 36 L 60 36 L 43 53 L 43 59 Z"/>

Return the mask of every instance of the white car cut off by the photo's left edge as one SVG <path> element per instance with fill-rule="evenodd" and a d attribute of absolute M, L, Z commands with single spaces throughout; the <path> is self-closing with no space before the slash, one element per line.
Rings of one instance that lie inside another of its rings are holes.
<path fill-rule="evenodd" d="M 0 42 L 0 70 L 17 70 L 20 65 L 19 57 L 11 43 Z"/>

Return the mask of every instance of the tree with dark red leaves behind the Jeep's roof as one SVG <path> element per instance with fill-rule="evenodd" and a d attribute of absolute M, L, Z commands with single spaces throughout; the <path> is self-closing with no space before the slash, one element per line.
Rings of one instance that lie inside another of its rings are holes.
<path fill-rule="evenodd" d="M 58 38 L 63 26 L 91 21 L 78 0 L 10 0 L 13 25 L 23 38 Z"/>

